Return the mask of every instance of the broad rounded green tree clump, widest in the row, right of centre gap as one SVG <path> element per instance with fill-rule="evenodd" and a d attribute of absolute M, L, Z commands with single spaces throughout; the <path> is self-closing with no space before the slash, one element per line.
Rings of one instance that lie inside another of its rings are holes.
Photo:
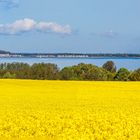
<path fill-rule="evenodd" d="M 63 80 L 112 80 L 113 74 L 103 68 L 92 64 L 80 63 L 75 66 L 65 67 L 60 71 Z"/>

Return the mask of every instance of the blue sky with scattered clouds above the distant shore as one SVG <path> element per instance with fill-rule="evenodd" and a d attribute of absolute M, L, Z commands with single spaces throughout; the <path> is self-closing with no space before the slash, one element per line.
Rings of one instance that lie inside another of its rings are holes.
<path fill-rule="evenodd" d="M 139 0 L 0 0 L 0 49 L 140 53 Z"/>

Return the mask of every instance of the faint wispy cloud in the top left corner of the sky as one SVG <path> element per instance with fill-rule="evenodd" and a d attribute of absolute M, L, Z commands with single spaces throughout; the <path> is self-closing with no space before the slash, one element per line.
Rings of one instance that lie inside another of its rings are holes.
<path fill-rule="evenodd" d="M 3 3 L 8 8 L 19 6 L 19 0 L 0 0 L 0 3 Z"/>

